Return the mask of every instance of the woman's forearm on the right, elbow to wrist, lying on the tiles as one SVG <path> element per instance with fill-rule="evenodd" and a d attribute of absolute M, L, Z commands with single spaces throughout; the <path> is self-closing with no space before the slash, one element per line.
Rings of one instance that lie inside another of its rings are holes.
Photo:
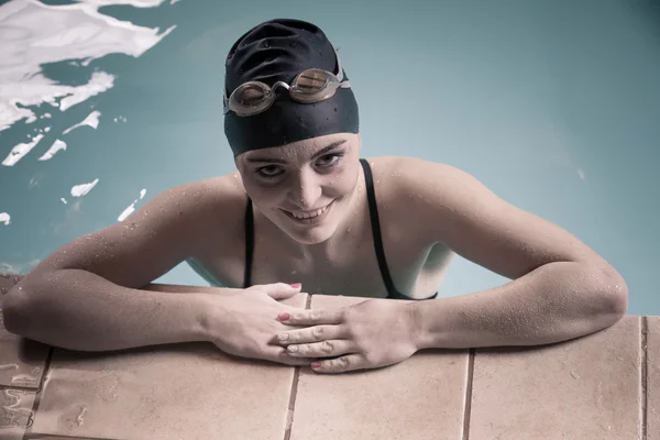
<path fill-rule="evenodd" d="M 585 336 L 625 314 L 627 289 L 613 270 L 550 263 L 488 290 L 410 304 L 418 345 L 540 345 Z"/>

